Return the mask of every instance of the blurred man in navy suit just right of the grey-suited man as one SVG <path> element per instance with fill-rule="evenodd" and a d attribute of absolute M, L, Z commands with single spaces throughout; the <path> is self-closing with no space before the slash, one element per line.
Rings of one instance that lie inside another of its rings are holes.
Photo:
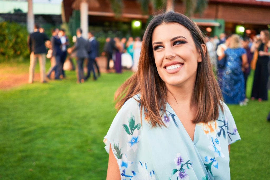
<path fill-rule="evenodd" d="M 96 40 L 96 38 L 93 35 L 93 32 L 88 33 L 88 48 L 87 48 L 87 53 L 88 53 L 88 64 L 87 64 L 87 75 L 85 77 L 85 80 L 87 80 L 90 77 L 91 71 L 93 72 L 94 80 L 96 80 L 96 73 L 94 70 L 93 64 L 96 62 L 96 57 L 98 56 L 99 53 L 99 44 Z M 98 73 L 99 72 L 99 67 L 97 66 Z"/>

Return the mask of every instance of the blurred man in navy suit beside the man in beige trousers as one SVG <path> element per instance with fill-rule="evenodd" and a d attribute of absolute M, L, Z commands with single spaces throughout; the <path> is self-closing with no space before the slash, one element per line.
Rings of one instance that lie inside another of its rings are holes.
<path fill-rule="evenodd" d="M 61 40 L 58 36 L 59 29 L 53 29 L 52 37 L 50 39 L 50 43 L 52 45 L 52 60 L 54 61 L 53 66 L 50 67 L 48 74 L 46 75 L 48 79 L 50 79 L 50 75 L 52 71 L 55 72 L 55 78 L 59 79 L 60 72 L 60 56 L 61 56 L 61 49 L 60 46 L 62 45 Z"/>

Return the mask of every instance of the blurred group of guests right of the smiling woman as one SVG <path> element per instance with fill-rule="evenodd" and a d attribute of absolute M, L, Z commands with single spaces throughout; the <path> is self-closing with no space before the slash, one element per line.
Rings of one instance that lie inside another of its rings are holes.
<path fill-rule="evenodd" d="M 268 100 L 270 90 L 269 31 L 262 30 L 253 38 L 237 34 L 205 38 L 213 70 L 217 73 L 224 101 L 228 104 L 247 105 L 247 79 L 255 70 L 251 99 Z"/>

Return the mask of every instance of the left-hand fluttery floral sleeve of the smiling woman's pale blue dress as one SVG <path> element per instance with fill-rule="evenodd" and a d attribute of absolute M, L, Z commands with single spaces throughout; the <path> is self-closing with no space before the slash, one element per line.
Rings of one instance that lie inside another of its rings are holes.
<path fill-rule="evenodd" d="M 122 177 L 133 176 L 133 166 L 139 163 L 136 157 L 141 140 L 140 104 L 134 98 L 127 100 L 116 114 L 103 140 L 108 153 L 111 145 Z"/>

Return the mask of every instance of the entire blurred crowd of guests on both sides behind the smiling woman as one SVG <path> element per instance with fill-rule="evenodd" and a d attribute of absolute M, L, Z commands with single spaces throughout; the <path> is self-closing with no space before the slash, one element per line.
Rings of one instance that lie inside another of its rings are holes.
<path fill-rule="evenodd" d="M 31 50 L 29 83 L 33 83 L 36 59 L 40 64 L 40 79 L 46 82 L 45 77 L 54 79 L 65 78 L 64 69 L 74 69 L 71 58 L 76 58 L 77 83 L 83 83 L 93 74 L 96 80 L 100 76 L 97 63 L 99 56 L 99 43 L 94 32 L 88 33 L 88 39 L 82 37 L 82 30 L 77 29 L 73 37 L 74 45 L 69 47 L 69 40 L 64 29 L 53 29 L 52 37 L 45 35 L 44 29 L 35 25 L 34 32 L 29 35 L 28 45 Z M 205 44 L 210 56 L 213 70 L 217 74 L 224 101 L 228 104 L 246 105 L 247 79 L 251 68 L 255 70 L 252 86 L 251 99 L 258 101 L 268 100 L 268 89 L 270 89 L 270 38 L 269 31 L 262 30 L 253 38 L 241 38 L 237 34 L 225 35 L 221 33 L 219 38 L 205 37 Z M 49 48 L 48 53 L 46 47 Z M 142 42 L 139 37 L 106 38 L 102 56 L 106 57 L 106 71 L 122 73 L 122 68 L 136 71 L 138 68 Z M 46 55 L 47 53 L 47 55 Z M 51 67 L 45 74 L 46 57 L 51 61 Z M 68 58 L 67 58 L 68 56 Z M 87 61 L 87 73 L 84 74 L 84 61 Z M 65 68 L 66 64 L 66 68 Z M 96 75 L 97 72 L 97 75 Z"/>

